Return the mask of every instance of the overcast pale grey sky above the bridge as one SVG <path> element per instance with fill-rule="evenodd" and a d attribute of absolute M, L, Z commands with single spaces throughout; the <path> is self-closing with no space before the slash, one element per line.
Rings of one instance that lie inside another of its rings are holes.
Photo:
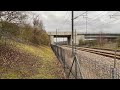
<path fill-rule="evenodd" d="M 47 32 L 55 31 L 71 31 L 71 11 L 32 11 L 39 15 L 43 21 Z M 83 14 L 84 13 L 84 14 Z M 79 16 L 87 15 L 86 18 Z M 112 18 L 110 18 L 110 15 Z M 120 12 L 119 11 L 74 11 L 74 17 L 79 16 L 74 20 L 74 28 L 77 32 L 106 32 L 120 33 Z"/>

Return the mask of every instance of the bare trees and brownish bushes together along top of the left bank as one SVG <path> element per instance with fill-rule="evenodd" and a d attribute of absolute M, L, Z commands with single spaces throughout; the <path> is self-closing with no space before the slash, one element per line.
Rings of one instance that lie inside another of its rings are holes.
<path fill-rule="evenodd" d="M 17 41 L 34 45 L 49 45 L 50 39 L 45 31 L 43 21 L 33 15 L 29 23 L 29 12 L 0 11 L 0 39 L 15 38 Z"/>

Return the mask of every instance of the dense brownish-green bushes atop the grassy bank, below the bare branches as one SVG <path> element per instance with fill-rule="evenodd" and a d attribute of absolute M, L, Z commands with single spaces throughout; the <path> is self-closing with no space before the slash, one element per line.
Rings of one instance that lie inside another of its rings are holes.
<path fill-rule="evenodd" d="M 17 39 L 17 41 L 22 41 L 22 43 L 50 45 L 50 39 L 45 30 L 39 30 L 29 24 L 18 26 L 13 23 L 2 22 L 2 27 L 0 28 L 0 38 L 2 36 L 1 32 L 4 32 L 5 37 L 11 38 L 12 36 Z"/>

